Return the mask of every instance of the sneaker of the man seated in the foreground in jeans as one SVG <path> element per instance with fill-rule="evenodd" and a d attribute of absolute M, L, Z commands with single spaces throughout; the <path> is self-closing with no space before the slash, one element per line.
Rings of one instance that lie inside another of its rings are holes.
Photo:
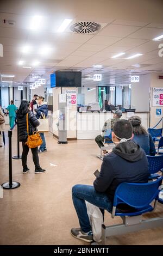
<path fill-rule="evenodd" d="M 93 241 L 92 231 L 84 233 L 81 228 L 72 228 L 71 229 L 71 235 L 80 239 L 80 240 L 83 240 L 85 242 L 92 242 Z"/>

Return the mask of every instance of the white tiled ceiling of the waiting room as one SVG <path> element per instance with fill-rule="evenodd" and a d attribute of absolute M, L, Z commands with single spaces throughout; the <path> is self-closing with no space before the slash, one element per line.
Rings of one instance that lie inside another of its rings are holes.
<path fill-rule="evenodd" d="M 36 77 L 47 78 L 49 84 L 53 71 L 67 69 L 82 71 L 84 86 L 128 84 L 131 75 L 163 74 L 163 57 L 158 55 L 163 40 L 152 41 L 163 34 L 162 10 L 161 0 L 1 0 L 0 71 L 15 77 L 1 77 L 0 85 L 13 81 L 13 86 L 27 86 Z M 31 30 L 35 15 L 42 20 L 39 29 Z M 78 34 L 68 27 L 59 33 L 64 19 L 72 19 L 70 26 L 92 21 L 102 28 L 96 33 Z M 41 50 L 45 45 L 50 48 L 47 54 Z M 28 53 L 22 52 L 24 46 L 30 46 Z M 121 52 L 126 54 L 111 58 Z M 142 56 L 126 59 L 136 53 Z M 18 65 L 20 61 L 23 65 Z M 39 62 L 37 66 L 33 65 L 35 61 Z M 93 74 L 102 74 L 102 81 L 93 81 Z"/>

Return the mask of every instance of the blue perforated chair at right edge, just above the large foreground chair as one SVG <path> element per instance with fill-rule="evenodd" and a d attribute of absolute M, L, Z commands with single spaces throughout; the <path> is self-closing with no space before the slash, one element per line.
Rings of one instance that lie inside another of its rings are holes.
<path fill-rule="evenodd" d="M 159 171 L 162 172 L 163 168 L 163 155 L 147 156 L 149 163 L 149 180 L 158 179 L 160 177 L 157 174 Z"/>

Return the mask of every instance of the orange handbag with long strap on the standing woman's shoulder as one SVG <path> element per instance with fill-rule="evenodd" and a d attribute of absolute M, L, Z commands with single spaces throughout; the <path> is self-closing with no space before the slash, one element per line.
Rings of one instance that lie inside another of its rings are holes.
<path fill-rule="evenodd" d="M 39 132 L 34 131 L 33 135 L 29 135 L 29 126 L 28 126 L 28 113 L 26 115 L 26 121 L 27 121 L 27 142 L 25 143 L 28 148 L 33 149 L 36 148 L 38 146 L 40 146 L 42 144 L 42 139 L 40 137 Z"/>

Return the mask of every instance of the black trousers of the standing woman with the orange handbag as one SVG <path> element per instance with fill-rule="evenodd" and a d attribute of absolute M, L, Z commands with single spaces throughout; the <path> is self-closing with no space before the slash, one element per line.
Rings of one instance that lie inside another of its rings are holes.
<path fill-rule="evenodd" d="M 29 152 L 29 148 L 27 145 L 25 145 L 25 142 L 22 142 L 22 147 L 23 147 L 23 153 L 22 153 L 22 166 L 23 168 L 27 167 L 27 155 Z M 33 162 L 35 164 L 35 168 L 40 168 L 40 163 L 39 163 L 39 156 L 38 156 L 38 147 L 31 149 L 32 151 L 32 156 L 33 156 Z"/>

